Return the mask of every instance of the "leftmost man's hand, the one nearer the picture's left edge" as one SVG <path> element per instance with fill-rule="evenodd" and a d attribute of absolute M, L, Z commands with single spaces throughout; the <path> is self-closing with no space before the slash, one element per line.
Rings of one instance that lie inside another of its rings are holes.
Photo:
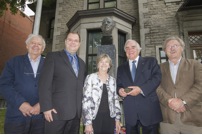
<path fill-rule="evenodd" d="M 19 107 L 19 110 L 22 112 L 22 114 L 25 117 L 32 116 L 32 114 L 30 112 L 31 112 L 31 110 L 33 110 L 33 107 L 28 102 L 22 103 L 21 106 Z"/>

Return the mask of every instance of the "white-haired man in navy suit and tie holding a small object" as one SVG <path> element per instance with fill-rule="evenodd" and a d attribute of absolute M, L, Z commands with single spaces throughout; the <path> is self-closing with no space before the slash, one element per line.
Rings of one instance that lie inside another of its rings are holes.
<path fill-rule="evenodd" d="M 118 67 L 117 91 L 123 97 L 126 133 L 157 134 L 162 121 L 156 88 L 161 71 L 153 57 L 140 57 L 140 46 L 127 40 L 124 46 L 128 61 Z M 128 91 L 126 88 L 131 89 Z"/>

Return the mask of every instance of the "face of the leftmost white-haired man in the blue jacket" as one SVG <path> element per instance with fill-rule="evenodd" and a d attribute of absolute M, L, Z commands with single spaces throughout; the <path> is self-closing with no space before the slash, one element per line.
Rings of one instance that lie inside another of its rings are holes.
<path fill-rule="evenodd" d="M 44 51 L 42 39 L 39 37 L 33 37 L 26 46 L 30 55 L 39 56 Z"/>

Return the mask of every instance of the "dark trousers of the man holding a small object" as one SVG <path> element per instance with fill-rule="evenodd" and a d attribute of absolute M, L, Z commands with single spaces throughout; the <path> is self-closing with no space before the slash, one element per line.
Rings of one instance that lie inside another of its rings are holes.
<path fill-rule="evenodd" d="M 149 126 L 143 126 L 138 120 L 135 126 L 130 126 L 126 124 L 126 134 L 158 134 L 159 133 L 159 123 Z"/>

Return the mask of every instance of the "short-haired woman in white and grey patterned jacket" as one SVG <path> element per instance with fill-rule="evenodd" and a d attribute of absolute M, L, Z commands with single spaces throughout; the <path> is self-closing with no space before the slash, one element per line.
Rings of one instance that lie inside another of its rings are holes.
<path fill-rule="evenodd" d="M 120 132 L 121 109 L 116 93 L 116 80 L 108 74 L 111 58 L 101 54 L 97 58 L 98 72 L 87 76 L 83 88 L 83 122 L 86 134 Z"/>

